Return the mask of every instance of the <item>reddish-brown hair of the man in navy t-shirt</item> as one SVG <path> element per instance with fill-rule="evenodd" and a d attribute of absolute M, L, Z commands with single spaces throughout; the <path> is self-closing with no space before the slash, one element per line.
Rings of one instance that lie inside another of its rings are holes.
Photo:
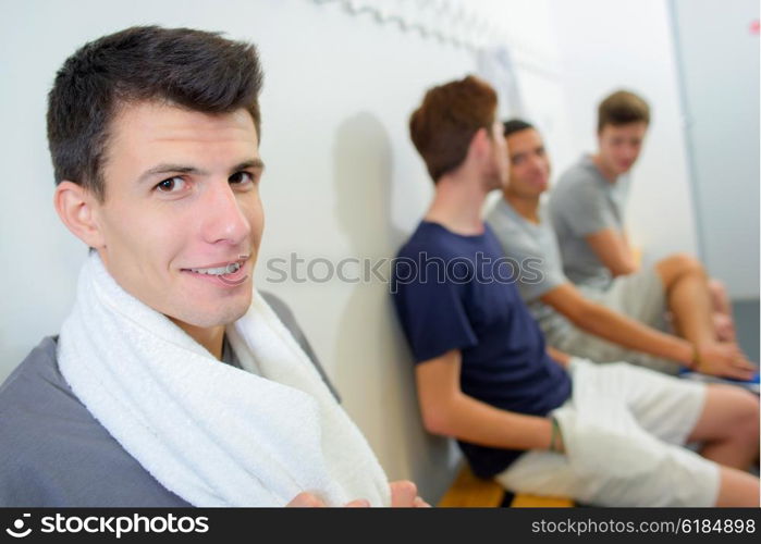
<path fill-rule="evenodd" d="M 471 75 L 426 92 L 409 119 L 409 135 L 434 183 L 463 163 L 480 128 L 491 135 L 495 114 L 496 92 Z"/>

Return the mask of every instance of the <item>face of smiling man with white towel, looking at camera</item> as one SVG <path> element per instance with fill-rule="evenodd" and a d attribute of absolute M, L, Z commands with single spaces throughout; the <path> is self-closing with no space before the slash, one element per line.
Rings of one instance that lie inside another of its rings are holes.
<path fill-rule="evenodd" d="M 111 125 L 106 201 L 94 210 L 106 268 L 181 326 L 236 320 L 251 300 L 262 168 L 244 109 L 126 106 Z"/>

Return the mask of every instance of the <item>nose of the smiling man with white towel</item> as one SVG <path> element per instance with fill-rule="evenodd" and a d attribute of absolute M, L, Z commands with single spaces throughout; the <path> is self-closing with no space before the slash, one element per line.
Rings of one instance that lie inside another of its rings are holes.
<path fill-rule="evenodd" d="M 201 203 L 202 235 L 209 244 L 243 244 L 251 232 L 235 191 L 226 180 L 209 184 Z"/>

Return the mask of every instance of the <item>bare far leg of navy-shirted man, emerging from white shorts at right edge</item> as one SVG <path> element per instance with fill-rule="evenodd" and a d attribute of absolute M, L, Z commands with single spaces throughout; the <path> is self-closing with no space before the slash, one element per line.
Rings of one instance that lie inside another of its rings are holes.
<path fill-rule="evenodd" d="M 688 441 L 702 442 L 700 455 L 707 459 L 748 469 L 759 455 L 758 398 L 734 385 L 708 385 L 702 412 Z"/>

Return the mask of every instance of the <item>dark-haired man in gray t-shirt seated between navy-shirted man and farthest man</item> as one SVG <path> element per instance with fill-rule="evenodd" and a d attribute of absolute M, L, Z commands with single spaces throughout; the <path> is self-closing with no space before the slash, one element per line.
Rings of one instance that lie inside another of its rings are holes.
<path fill-rule="evenodd" d="M 663 321 L 666 309 L 672 309 L 683 323 L 702 320 L 710 325 L 708 313 L 701 316 L 700 307 L 690 307 L 689 300 L 670 307 L 658 296 L 660 286 L 651 287 L 645 281 L 638 283 L 638 289 L 606 294 L 574 286 L 563 273 L 557 240 L 540 205 L 550 180 L 550 161 L 542 138 L 533 126 L 520 120 L 504 123 L 504 133 L 510 183 L 488 221 L 505 254 L 520 264 L 519 292 L 548 343 L 597 362 L 626 360 L 668 373 L 676 373 L 677 363 L 682 363 L 704 373 L 749 378 L 752 367 L 736 345 L 719 343 L 712 334 L 684 339 L 655 326 Z M 659 281 L 648 280 L 650 284 Z M 708 293 L 702 296 L 708 297 Z"/>

